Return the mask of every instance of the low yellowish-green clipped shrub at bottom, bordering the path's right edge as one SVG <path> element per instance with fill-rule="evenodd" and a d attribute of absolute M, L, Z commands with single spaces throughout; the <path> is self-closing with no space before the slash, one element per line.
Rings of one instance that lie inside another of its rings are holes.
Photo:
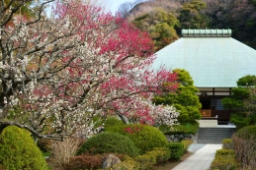
<path fill-rule="evenodd" d="M 235 159 L 235 151 L 232 149 L 218 149 L 210 169 L 236 170 L 239 167 Z"/>

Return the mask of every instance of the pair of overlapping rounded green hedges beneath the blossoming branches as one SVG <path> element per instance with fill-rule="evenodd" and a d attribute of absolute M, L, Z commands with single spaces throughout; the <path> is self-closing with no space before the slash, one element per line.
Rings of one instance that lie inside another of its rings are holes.
<path fill-rule="evenodd" d="M 156 128 L 141 124 L 129 124 L 108 129 L 84 142 L 77 154 L 125 153 L 134 157 L 152 150 L 165 147 L 167 140 Z"/>

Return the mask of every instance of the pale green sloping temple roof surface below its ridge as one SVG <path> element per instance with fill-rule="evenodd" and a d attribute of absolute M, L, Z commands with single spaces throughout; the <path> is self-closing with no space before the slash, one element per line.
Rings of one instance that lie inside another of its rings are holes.
<path fill-rule="evenodd" d="M 228 36 L 185 36 L 156 53 L 160 67 L 185 69 L 198 87 L 234 87 L 256 75 L 256 50 Z"/>

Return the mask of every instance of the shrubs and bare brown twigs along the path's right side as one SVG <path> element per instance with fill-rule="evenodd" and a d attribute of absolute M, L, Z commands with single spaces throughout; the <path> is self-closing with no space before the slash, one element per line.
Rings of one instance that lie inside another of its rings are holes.
<path fill-rule="evenodd" d="M 224 139 L 222 141 L 223 149 L 216 152 L 213 166 L 236 169 L 239 165 L 239 168 L 241 169 L 255 169 L 255 140 L 256 125 L 250 125 L 239 129 L 231 139 Z M 239 162 L 239 164 L 236 162 Z"/>

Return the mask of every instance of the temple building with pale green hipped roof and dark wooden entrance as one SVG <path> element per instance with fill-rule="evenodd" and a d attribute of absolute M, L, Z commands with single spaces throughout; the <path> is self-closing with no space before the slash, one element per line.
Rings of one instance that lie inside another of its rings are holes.
<path fill-rule="evenodd" d="M 256 75 L 256 50 L 231 37 L 231 29 L 182 29 L 182 37 L 156 52 L 154 70 L 185 69 L 199 88 L 203 119 L 229 123 L 221 98 L 238 79 Z"/>

